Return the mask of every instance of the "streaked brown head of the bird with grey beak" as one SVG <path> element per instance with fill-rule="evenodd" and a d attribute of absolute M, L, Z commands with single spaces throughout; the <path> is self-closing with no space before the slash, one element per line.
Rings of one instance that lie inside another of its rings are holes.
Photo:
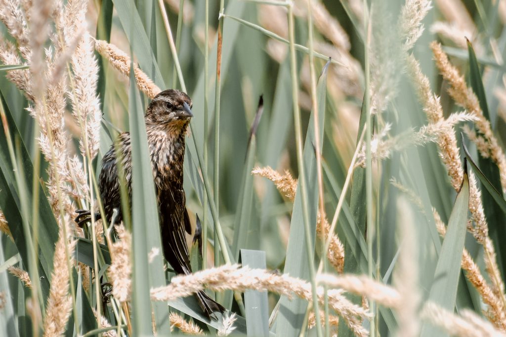
<path fill-rule="evenodd" d="M 192 102 L 188 95 L 177 89 L 163 90 L 157 94 L 146 110 L 146 126 L 167 131 L 186 131 L 193 117 Z"/>

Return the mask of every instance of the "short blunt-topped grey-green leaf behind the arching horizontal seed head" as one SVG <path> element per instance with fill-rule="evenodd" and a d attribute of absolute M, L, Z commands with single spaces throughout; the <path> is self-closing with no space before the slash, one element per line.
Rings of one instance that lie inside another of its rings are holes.
<path fill-rule="evenodd" d="M 240 263 L 249 268 L 265 269 L 265 252 L 241 249 Z M 247 290 L 244 293 L 247 335 L 260 337 L 269 335 L 269 302 L 267 292 Z"/>

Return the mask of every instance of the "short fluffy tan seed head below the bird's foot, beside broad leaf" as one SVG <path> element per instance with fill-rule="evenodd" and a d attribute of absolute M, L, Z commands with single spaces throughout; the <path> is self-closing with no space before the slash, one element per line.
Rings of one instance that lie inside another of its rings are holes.
<path fill-rule="evenodd" d="M 119 240 L 112 244 L 112 263 L 108 269 L 111 278 L 112 295 L 123 303 L 129 301 L 132 293 L 132 263 L 130 261 L 132 234 L 122 224 L 114 226 Z"/>

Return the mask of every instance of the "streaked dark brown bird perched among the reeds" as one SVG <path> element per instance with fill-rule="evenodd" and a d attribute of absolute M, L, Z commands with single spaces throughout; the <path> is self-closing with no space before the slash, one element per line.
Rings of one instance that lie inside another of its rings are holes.
<path fill-rule="evenodd" d="M 193 117 L 191 108 L 192 101 L 185 92 L 167 89 L 151 100 L 144 116 L 163 255 L 177 274 L 185 275 L 192 273 L 185 234 L 191 235 L 191 224 L 183 189 L 185 135 Z M 121 159 L 119 165 L 117 151 Z M 123 174 L 126 191 L 132 204 L 132 148 L 129 132 L 119 134 L 116 145 L 113 144 L 104 155 L 99 175 L 99 190 L 104 214 L 110 221 L 113 210 L 116 209 L 118 212 L 115 218 L 116 223 L 123 219 L 119 169 Z M 78 214 L 75 218 L 77 224 L 82 226 L 90 221 L 90 211 L 78 210 L 76 213 Z M 95 218 L 101 218 L 99 212 L 95 214 Z M 223 306 L 209 298 L 203 291 L 196 293 L 195 296 L 207 319 L 216 319 L 215 313 L 225 311 Z"/>

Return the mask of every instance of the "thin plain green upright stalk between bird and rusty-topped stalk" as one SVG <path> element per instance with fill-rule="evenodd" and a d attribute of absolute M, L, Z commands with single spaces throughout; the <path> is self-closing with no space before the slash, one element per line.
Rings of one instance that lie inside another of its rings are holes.
<path fill-rule="evenodd" d="M 203 174 L 208 174 L 207 171 L 207 138 L 209 137 L 208 133 L 208 124 L 209 124 L 209 0 L 205 0 L 205 20 L 204 20 L 204 141 L 203 141 L 203 149 L 204 149 L 204 172 Z M 204 200 L 202 202 L 203 208 L 203 219 L 202 219 L 202 262 L 203 268 L 207 268 L 207 194 L 204 194 Z"/>

